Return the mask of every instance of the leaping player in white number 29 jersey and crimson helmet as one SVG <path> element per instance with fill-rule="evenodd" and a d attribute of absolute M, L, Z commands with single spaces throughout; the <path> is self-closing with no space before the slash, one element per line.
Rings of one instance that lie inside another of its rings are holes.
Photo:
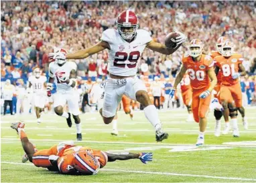
<path fill-rule="evenodd" d="M 103 109 L 100 110 L 103 121 L 105 124 L 112 122 L 117 106 L 123 94 L 125 94 L 145 106 L 145 117 L 155 128 L 157 142 L 161 142 L 168 138 L 168 134 L 162 131 L 162 124 L 159 121 L 157 110 L 151 104 L 145 85 L 136 76 L 137 61 L 145 47 L 166 55 L 174 53 L 186 41 L 186 35 L 179 32 L 180 36 L 174 40 L 177 46 L 168 48 L 162 43 L 153 41 L 148 31 L 138 29 L 139 21 L 137 15 L 130 10 L 120 13 L 116 24 L 117 29 L 105 30 L 101 41 L 88 49 L 81 49 L 68 55 L 50 53 L 49 57 L 84 59 L 94 53 L 109 49 L 109 78 L 105 86 Z"/>

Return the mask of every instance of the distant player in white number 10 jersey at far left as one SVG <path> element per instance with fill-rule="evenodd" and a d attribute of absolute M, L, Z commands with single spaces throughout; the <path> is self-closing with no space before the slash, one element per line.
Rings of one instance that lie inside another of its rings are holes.
<path fill-rule="evenodd" d="M 33 75 L 28 78 L 28 92 L 33 89 L 33 101 L 36 109 L 36 118 L 38 118 L 38 124 L 41 123 L 41 113 L 44 111 L 44 104 L 46 104 L 46 81 L 45 75 L 41 75 L 42 72 L 39 68 L 34 69 Z"/>

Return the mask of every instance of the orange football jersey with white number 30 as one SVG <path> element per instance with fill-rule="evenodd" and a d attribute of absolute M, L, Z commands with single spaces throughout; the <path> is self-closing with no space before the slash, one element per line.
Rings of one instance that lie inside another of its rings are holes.
<path fill-rule="evenodd" d="M 214 66 L 214 61 L 210 55 L 202 54 L 200 61 L 193 61 L 191 56 L 184 55 L 182 63 L 188 71 L 192 89 L 202 89 L 210 86 L 207 71 Z"/>

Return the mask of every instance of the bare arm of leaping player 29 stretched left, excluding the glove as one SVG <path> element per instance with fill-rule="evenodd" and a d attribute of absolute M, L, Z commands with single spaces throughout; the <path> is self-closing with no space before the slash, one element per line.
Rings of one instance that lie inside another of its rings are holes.
<path fill-rule="evenodd" d="M 100 41 L 99 43 L 90 48 L 80 49 L 79 51 L 66 55 L 66 59 L 84 59 L 86 57 L 89 57 L 90 55 L 93 55 L 94 53 L 103 51 L 106 48 L 110 49 L 109 43 L 105 41 Z"/>

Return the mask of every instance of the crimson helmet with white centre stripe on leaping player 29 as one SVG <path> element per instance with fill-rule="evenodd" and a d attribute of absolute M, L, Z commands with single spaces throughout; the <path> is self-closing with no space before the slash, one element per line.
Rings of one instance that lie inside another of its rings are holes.
<path fill-rule="evenodd" d="M 120 33 L 121 37 L 127 40 L 132 39 L 136 35 L 136 31 L 139 27 L 139 21 L 137 15 L 133 11 L 126 10 L 118 15 L 116 25 L 117 31 Z M 125 28 L 133 28 L 133 31 L 125 32 L 123 31 Z"/>

